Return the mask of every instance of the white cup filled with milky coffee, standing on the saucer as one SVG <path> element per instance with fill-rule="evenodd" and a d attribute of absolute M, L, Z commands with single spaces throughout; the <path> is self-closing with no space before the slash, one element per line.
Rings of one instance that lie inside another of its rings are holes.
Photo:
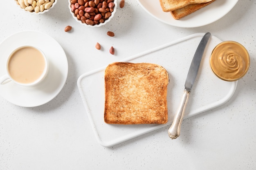
<path fill-rule="evenodd" d="M 0 84 L 11 80 L 18 85 L 34 86 L 46 77 L 48 70 L 49 63 L 43 51 L 35 46 L 20 46 L 7 58 L 7 74 L 0 77 Z"/>

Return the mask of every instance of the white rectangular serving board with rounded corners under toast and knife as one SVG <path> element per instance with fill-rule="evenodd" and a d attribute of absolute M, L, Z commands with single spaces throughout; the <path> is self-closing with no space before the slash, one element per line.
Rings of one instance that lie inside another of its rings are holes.
<path fill-rule="evenodd" d="M 168 122 L 166 124 L 106 124 L 104 122 L 104 73 L 106 66 L 84 73 L 79 77 L 77 81 L 79 92 L 95 137 L 100 145 L 110 147 L 158 128 L 171 125 L 180 104 L 189 66 L 203 35 L 204 33 L 192 34 L 120 61 L 154 63 L 166 69 L 170 79 L 167 92 Z M 222 42 L 220 39 L 211 35 L 186 106 L 184 119 L 224 104 L 236 90 L 237 81 L 223 81 L 211 71 L 209 65 L 211 51 L 220 42 Z M 166 135 L 168 135 L 167 131 Z"/>

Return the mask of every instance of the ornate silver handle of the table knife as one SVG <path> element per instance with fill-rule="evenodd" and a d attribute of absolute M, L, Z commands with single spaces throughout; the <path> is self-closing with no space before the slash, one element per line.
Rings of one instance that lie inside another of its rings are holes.
<path fill-rule="evenodd" d="M 180 126 L 184 117 L 186 104 L 189 101 L 189 94 L 189 91 L 184 90 L 182 99 L 180 101 L 180 106 L 178 107 L 173 123 L 168 130 L 168 134 L 171 139 L 176 139 L 178 136 L 180 136 Z"/>

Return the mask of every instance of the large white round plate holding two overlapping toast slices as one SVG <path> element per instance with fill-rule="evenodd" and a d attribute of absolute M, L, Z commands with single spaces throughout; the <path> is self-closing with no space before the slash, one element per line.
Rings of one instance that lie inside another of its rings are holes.
<path fill-rule="evenodd" d="M 187 15 L 180 20 L 175 20 L 170 12 L 162 11 L 159 0 L 137 0 L 140 6 L 156 18 L 166 24 L 194 28 L 211 24 L 226 15 L 238 2 L 238 0 L 216 0 L 206 7 Z"/>

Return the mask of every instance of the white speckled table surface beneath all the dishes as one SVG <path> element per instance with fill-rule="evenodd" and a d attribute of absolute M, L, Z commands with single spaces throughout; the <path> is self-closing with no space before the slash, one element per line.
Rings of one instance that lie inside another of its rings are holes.
<path fill-rule="evenodd" d="M 47 33 L 63 47 L 69 73 L 62 91 L 42 106 L 20 107 L 0 97 L 0 170 L 256 168 L 254 0 L 239 0 L 223 18 L 198 28 L 164 24 L 148 15 L 137 1 L 126 0 L 111 22 L 96 29 L 77 23 L 67 0 L 58 0 L 54 9 L 43 15 L 25 13 L 13 1 L 0 2 L 0 41 L 18 31 Z M 67 25 L 73 26 L 69 33 L 64 32 Z M 107 31 L 115 32 L 115 37 L 108 37 Z M 185 119 L 182 134 L 175 140 L 168 137 L 166 126 L 110 148 L 99 145 L 76 85 L 78 77 L 201 32 L 240 42 L 251 56 L 249 71 L 238 81 L 233 97 L 218 108 Z M 102 51 L 94 48 L 96 42 L 101 43 Z M 110 46 L 115 47 L 115 55 L 108 53 Z"/>

